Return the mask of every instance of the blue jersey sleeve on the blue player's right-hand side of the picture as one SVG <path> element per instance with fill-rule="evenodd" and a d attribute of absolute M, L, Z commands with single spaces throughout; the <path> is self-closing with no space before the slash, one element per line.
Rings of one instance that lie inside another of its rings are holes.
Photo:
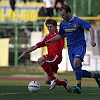
<path fill-rule="evenodd" d="M 82 20 L 78 17 L 75 17 L 75 20 L 83 29 L 89 30 L 91 28 L 90 23 L 88 23 L 87 21 Z"/>

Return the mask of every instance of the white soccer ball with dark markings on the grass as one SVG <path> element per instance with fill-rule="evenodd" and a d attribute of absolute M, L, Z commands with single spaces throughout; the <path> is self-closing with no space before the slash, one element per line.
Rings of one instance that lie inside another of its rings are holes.
<path fill-rule="evenodd" d="M 31 81 L 28 84 L 28 90 L 30 92 L 38 92 L 40 90 L 40 84 L 37 81 Z"/>

